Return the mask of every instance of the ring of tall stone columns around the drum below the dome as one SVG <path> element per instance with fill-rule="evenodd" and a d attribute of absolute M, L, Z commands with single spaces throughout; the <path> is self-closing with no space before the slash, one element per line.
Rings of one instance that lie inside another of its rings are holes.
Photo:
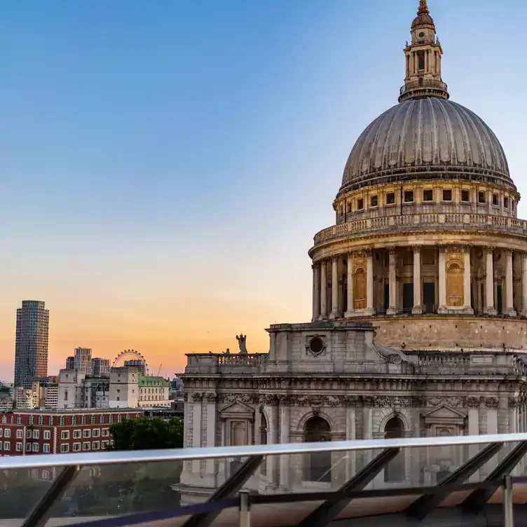
<path fill-rule="evenodd" d="M 401 313 L 527 316 L 527 252 L 416 245 L 313 263 L 313 321 Z"/>

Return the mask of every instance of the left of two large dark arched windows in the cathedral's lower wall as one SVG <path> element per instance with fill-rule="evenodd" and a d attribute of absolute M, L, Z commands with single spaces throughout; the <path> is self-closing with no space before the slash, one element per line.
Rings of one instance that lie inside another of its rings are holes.
<path fill-rule="evenodd" d="M 305 443 L 331 441 L 331 427 L 327 420 L 313 416 L 303 427 Z M 331 452 L 309 453 L 306 456 L 304 479 L 331 483 Z"/>

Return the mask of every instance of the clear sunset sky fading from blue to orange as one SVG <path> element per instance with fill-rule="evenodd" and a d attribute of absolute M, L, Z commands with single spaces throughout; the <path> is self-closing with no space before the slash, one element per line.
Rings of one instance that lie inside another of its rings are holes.
<path fill-rule="evenodd" d="M 240 331 L 264 352 L 268 324 L 310 320 L 307 251 L 355 139 L 397 103 L 417 6 L 2 2 L 0 378 L 22 299 L 50 310 L 50 374 L 85 346 L 172 376 L 185 353 L 237 350 Z M 452 100 L 526 194 L 526 4 L 429 6 Z"/>

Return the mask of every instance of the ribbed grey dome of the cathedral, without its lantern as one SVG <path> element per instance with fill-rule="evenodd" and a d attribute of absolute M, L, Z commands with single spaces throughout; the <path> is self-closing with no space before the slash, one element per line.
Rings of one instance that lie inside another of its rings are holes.
<path fill-rule="evenodd" d="M 479 116 L 442 97 L 416 97 L 388 109 L 362 132 L 341 191 L 453 174 L 515 189 L 505 152 Z"/>

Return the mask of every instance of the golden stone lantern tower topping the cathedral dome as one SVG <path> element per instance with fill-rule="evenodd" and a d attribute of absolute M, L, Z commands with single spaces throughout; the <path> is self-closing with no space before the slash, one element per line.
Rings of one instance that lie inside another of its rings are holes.
<path fill-rule="evenodd" d="M 399 102 L 430 96 L 449 99 L 447 86 L 441 78 L 443 50 L 426 0 L 419 1 L 417 16 L 411 24 L 411 42 L 406 42 L 404 55 L 406 75 Z"/>

